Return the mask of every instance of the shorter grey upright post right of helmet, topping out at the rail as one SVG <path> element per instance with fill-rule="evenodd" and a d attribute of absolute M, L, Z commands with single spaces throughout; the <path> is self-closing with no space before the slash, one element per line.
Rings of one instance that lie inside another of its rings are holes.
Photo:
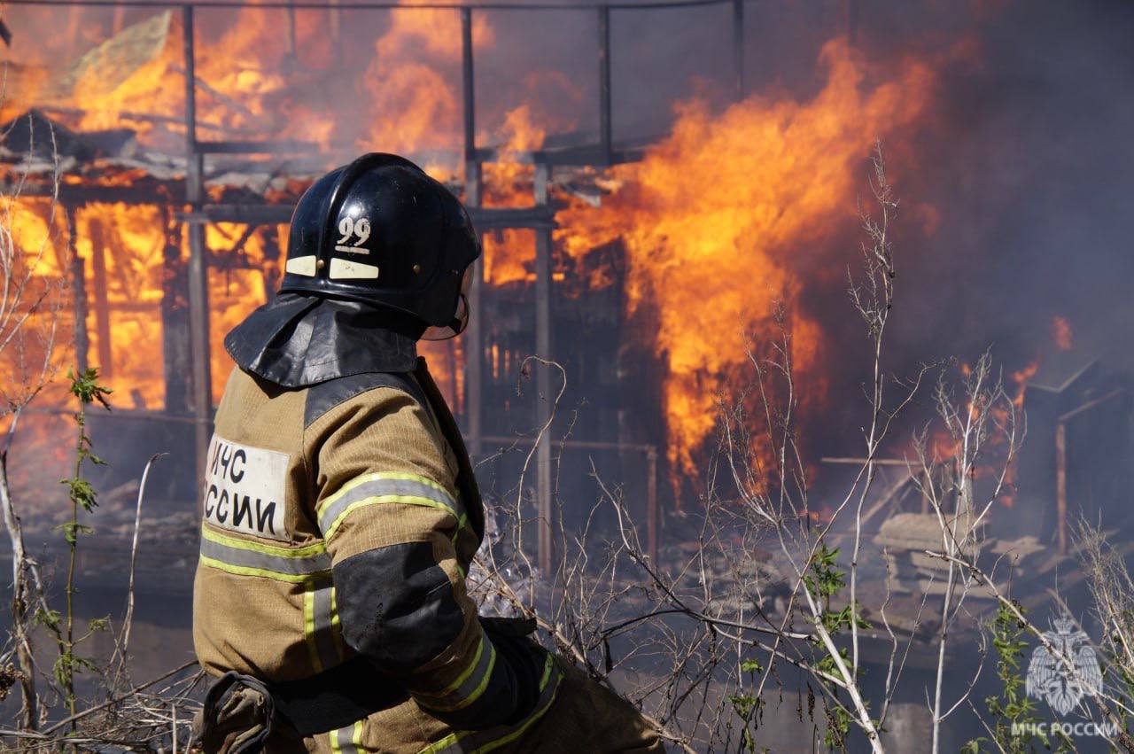
<path fill-rule="evenodd" d="M 545 206 L 549 200 L 548 184 L 551 167 L 536 163 L 534 178 L 535 205 Z M 551 358 L 551 228 L 535 231 L 535 353 L 542 358 Z M 538 365 L 535 371 L 535 423 L 539 430 L 551 420 L 551 368 Z M 552 510 L 551 494 L 551 435 L 550 429 L 543 433 L 535 449 L 536 467 L 536 517 L 539 519 L 539 565 L 544 577 L 552 573 L 555 561 L 555 525 L 557 517 Z"/>

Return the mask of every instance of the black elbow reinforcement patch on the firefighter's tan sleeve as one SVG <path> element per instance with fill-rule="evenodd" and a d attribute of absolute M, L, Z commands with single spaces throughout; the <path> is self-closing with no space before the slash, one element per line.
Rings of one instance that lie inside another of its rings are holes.
<path fill-rule="evenodd" d="M 335 564 L 342 638 L 383 671 L 413 672 L 447 646 L 465 617 L 429 542 L 367 550 Z"/>

